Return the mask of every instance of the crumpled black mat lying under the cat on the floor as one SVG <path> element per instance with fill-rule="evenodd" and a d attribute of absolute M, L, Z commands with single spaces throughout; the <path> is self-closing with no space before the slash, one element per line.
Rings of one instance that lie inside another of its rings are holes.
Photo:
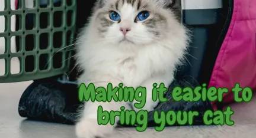
<path fill-rule="evenodd" d="M 174 101 L 171 90 L 174 87 L 197 87 L 199 84 L 189 76 L 177 77 L 166 94 L 168 101 L 156 107 L 156 111 L 198 111 L 194 125 L 203 124 L 203 113 L 212 110 L 209 101 Z M 74 84 L 62 84 L 52 78 L 37 80 L 21 96 L 18 112 L 21 117 L 39 121 L 74 124 L 77 120 L 76 110 L 79 107 L 78 87 Z M 149 112 L 148 126 L 156 126 L 153 111 Z"/>

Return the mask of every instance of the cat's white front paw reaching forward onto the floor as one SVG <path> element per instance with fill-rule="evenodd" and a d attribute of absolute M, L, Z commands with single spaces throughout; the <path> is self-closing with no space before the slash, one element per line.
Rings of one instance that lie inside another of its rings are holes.
<path fill-rule="evenodd" d="M 99 125 L 97 119 L 84 119 L 76 124 L 76 136 L 81 138 L 107 137 L 114 126 L 111 124 Z"/>

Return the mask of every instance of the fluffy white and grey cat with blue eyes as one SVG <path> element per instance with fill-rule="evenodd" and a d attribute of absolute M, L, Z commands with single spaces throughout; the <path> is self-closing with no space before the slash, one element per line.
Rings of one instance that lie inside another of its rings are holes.
<path fill-rule="evenodd" d="M 159 101 L 152 100 L 153 83 L 168 87 L 177 65 L 183 63 L 188 45 L 188 31 L 180 22 L 177 0 L 98 0 L 88 24 L 76 41 L 76 63 L 84 72 L 78 83 L 95 87 L 146 87 L 146 104 L 152 111 Z M 137 101 L 133 101 L 132 105 Z M 87 101 L 76 123 L 78 137 L 104 137 L 117 124 L 97 123 L 97 109 L 141 110 L 124 101 L 99 103 Z M 116 117 L 116 122 L 119 121 Z"/>

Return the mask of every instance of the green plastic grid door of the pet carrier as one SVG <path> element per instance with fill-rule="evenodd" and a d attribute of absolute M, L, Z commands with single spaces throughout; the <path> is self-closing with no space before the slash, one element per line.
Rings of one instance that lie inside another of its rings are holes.
<path fill-rule="evenodd" d="M 76 31 L 76 1 L 1 1 L 4 6 L 0 8 L 0 83 L 66 73 Z M 15 50 L 11 48 L 12 40 Z M 18 73 L 11 71 L 13 59 L 20 64 Z"/>

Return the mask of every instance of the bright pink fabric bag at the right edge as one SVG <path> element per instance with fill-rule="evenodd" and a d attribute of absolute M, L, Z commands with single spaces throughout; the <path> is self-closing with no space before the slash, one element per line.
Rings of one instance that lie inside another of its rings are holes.
<path fill-rule="evenodd" d="M 231 90 L 239 83 L 242 88 L 256 88 L 256 1 L 234 0 L 232 21 L 220 48 L 209 87 Z M 223 103 L 232 103 L 233 92 L 223 95 Z M 217 109 L 217 102 L 212 102 Z"/>

